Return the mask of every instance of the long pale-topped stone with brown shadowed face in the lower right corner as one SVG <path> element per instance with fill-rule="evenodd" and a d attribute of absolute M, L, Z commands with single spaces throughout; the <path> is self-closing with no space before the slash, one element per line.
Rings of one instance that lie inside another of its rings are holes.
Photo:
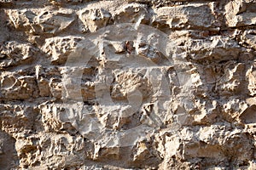
<path fill-rule="evenodd" d="M 176 156 L 180 159 L 193 159 L 195 157 L 201 159 L 203 157 L 204 165 L 201 165 L 201 168 L 214 166 L 214 162 L 218 159 L 223 161 L 229 159 L 226 155 L 227 152 L 237 154 L 236 160 L 233 161 L 247 160 L 247 157 L 253 154 L 253 145 L 249 144 L 247 134 L 242 133 L 239 129 L 230 132 L 229 128 L 228 124 L 212 125 L 211 127 L 200 128 L 198 133 L 184 128 L 180 134 L 166 137 L 166 148 L 170 148 L 170 152 L 166 150 L 166 157 Z M 218 139 L 212 138 L 212 135 L 223 136 L 223 140 L 218 141 Z M 236 140 L 232 141 L 232 136 L 237 136 Z M 180 142 L 180 138 L 183 139 L 183 142 Z M 241 145 L 244 143 L 247 143 L 248 148 L 241 148 L 245 146 Z M 198 163 L 201 164 L 201 161 L 198 160 Z"/>

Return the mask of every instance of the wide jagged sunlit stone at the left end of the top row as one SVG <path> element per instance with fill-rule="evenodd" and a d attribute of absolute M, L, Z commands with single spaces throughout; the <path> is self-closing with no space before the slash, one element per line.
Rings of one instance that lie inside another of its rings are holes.
<path fill-rule="evenodd" d="M 76 19 L 72 9 L 60 9 L 58 11 L 9 10 L 8 14 L 16 29 L 26 30 L 34 34 L 56 34 L 64 31 Z"/>

